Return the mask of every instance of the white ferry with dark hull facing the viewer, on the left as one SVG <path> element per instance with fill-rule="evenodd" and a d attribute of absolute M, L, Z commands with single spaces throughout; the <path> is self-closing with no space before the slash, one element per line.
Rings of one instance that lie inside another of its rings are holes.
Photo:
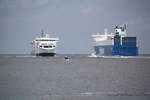
<path fill-rule="evenodd" d="M 41 36 L 31 42 L 33 46 L 32 54 L 36 56 L 54 56 L 58 41 L 59 38 L 51 38 L 49 34 L 44 34 L 42 31 Z"/>

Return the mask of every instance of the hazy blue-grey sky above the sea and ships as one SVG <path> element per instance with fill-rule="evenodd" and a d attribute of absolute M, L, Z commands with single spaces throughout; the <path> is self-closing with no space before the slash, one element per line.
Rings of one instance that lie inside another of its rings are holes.
<path fill-rule="evenodd" d="M 93 52 L 91 35 L 127 24 L 150 53 L 150 0 L 0 0 L 0 53 L 30 53 L 41 29 L 59 37 L 58 53 Z"/>

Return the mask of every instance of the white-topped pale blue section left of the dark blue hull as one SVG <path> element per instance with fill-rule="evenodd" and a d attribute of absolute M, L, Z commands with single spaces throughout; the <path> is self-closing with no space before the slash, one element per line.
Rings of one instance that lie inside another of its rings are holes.
<path fill-rule="evenodd" d="M 112 33 L 107 33 L 107 29 L 105 29 L 104 34 L 97 33 L 92 35 L 92 42 L 95 50 L 95 55 L 112 55 L 112 48 L 114 43 L 113 38 L 114 35 Z"/>

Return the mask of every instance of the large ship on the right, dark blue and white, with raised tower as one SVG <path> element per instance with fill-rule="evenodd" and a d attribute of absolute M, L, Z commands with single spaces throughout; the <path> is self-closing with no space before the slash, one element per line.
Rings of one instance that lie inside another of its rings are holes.
<path fill-rule="evenodd" d="M 126 25 L 116 26 L 114 34 L 92 35 L 96 56 L 137 56 L 136 37 L 126 36 Z"/>

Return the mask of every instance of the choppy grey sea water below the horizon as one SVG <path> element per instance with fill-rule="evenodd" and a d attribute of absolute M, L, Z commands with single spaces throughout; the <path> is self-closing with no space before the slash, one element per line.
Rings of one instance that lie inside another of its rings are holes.
<path fill-rule="evenodd" d="M 150 100 L 150 57 L 0 56 L 0 100 Z"/>

